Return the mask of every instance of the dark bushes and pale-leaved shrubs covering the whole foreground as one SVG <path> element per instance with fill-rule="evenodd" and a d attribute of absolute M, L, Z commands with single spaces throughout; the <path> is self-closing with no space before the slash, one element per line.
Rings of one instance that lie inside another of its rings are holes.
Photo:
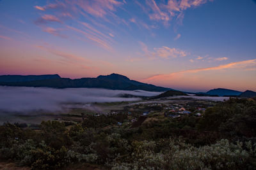
<path fill-rule="evenodd" d="M 42 122 L 39 130 L 0 126 L 0 158 L 32 169 L 97 164 L 101 169 L 256 169 L 256 101 L 231 98 L 202 117 L 88 116 L 78 124 Z M 68 125 L 68 126 L 67 126 Z"/>

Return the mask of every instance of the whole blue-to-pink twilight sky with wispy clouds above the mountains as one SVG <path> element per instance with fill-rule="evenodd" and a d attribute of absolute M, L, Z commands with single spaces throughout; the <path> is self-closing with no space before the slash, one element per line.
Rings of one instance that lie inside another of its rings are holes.
<path fill-rule="evenodd" d="M 0 0 L 0 74 L 256 91 L 256 1 Z"/>

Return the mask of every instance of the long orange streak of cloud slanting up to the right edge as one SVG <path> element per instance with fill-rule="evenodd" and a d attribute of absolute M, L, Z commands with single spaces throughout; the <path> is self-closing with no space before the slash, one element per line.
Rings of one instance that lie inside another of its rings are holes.
<path fill-rule="evenodd" d="M 239 69 L 247 69 L 248 67 L 256 67 L 256 59 L 253 60 L 243 60 L 239 62 L 230 62 L 229 64 L 224 64 L 220 66 L 215 66 L 215 67 L 205 67 L 205 68 L 198 68 L 198 69 L 189 69 L 186 71 L 178 71 L 175 73 L 170 73 L 170 74 L 158 74 L 156 76 L 151 76 L 149 78 L 144 79 L 143 81 L 156 81 L 156 80 L 170 80 L 173 77 L 177 77 L 180 74 L 186 74 L 186 73 L 198 73 L 201 71 L 214 71 L 214 70 L 223 70 L 223 69 L 234 69 L 234 68 L 239 68 Z"/>

